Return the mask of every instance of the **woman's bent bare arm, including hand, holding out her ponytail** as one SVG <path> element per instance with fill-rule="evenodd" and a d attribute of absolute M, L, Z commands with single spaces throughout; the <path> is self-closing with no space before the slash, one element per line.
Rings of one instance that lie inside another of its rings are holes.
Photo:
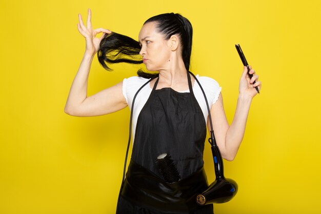
<path fill-rule="evenodd" d="M 65 112 L 73 116 L 97 116 L 121 110 L 127 106 L 123 95 L 123 83 L 118 83 L 87 98 L 88 76 L 93 57 L 105 33 L 111 33 L 111 31 L 103 28 L 92 29 L 90 9 L 88 9 L 87 27 L 83 23 L 81 14 L 78 16 L 80 24 L 77 26 L 79 32 L 85 37 L 86 50 L 71 85 Z M 96 38 L 95 35 L 101 32 L 103 35 Z"/>

